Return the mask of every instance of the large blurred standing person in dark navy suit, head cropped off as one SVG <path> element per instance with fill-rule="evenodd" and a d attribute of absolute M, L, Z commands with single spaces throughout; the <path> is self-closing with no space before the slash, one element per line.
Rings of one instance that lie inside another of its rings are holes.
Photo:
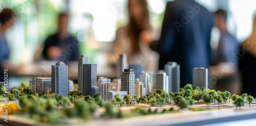
<path fill-rule="evenodd" d="M 167 61 L 181 66 L 181 87 L 193 82 L 194 67 L 209 67 L 212 26 L 212 14 L 195 1 L 167 3 L 160 40 L 150 46 L 160 54 L 159 69 L 163 70 Z"/>

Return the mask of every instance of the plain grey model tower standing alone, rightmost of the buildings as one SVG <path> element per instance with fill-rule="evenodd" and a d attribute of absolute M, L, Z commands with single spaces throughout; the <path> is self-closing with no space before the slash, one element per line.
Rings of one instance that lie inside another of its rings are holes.
<path fill-rule="evenodd" d="M 205 87 L 208 89 L 208 69 L 207 68 L 194 68 L 193 69 L 193 85 L 200 88 Z"/>

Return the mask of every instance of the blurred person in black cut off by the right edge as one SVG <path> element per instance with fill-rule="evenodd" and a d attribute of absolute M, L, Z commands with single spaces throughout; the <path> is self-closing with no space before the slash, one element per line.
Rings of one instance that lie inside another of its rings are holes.
<path fill-rule="evenodd" d="M 242 93 L 256 97 L 256 16 L 253 21 L 252 34 L 242 43 L 238 59 L 239 70 L 242 74 Z"/>

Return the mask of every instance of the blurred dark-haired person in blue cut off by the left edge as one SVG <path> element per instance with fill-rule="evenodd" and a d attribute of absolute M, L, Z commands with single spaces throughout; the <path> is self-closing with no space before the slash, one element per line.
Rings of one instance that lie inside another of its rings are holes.
<path fill-rule="evenodd" d="M 4 69 L 8 68 L 10 50 L 6 40 L 7 30 L 13 26 L 16 20 L 16 14 L 11 9 L 3 9 L 0 13 L 0 82 L 4 81 Z"/>

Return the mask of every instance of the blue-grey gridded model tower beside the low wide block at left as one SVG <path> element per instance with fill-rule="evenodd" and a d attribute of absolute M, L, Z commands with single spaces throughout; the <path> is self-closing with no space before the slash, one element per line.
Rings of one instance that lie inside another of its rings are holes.
<path fill-rule="evenodd" d="M 63 61 L 52 65 L 52 92 L 68 96 L 68 66 Z"/>

